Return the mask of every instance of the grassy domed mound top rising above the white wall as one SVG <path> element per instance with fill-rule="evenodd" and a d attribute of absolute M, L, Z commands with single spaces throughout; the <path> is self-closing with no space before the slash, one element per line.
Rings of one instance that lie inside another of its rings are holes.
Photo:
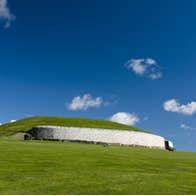
<path fill-rule="evenodd" d="M 135 127 L 127 125 L 94 119 L 83 118 L 64 118 L 64 117 L 31 117 L 18 120 L 14 123 L 8 123 L 0 126 L 0 136 L 9 136 L 17 132 L 30 130 L 38 125 L 55 125 L 55 126 L 70 126 L 70 127 L 89 127 L 89 128 L 105 128 L 105 129 L 122 129 L 146 132 Z"/>

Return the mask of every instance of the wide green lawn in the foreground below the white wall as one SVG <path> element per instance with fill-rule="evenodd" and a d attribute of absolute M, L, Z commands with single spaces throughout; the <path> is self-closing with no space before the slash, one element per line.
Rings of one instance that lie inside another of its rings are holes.
<path fill-rule="evenodd" d="M 196 194 L 196 153 L 0 138 L 0 194 Z"/>

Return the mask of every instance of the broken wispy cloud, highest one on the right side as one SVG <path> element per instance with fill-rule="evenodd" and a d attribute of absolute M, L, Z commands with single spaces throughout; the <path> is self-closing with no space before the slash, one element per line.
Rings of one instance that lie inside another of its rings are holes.
<path fill-rule="evenodd" d="M 156 60 L 152 58 L 146 59 L 130 59 L 125 66 L 132 70 L 135 74 L 145 76 L 152 80 L 162 77 L 161 69 Z"/>

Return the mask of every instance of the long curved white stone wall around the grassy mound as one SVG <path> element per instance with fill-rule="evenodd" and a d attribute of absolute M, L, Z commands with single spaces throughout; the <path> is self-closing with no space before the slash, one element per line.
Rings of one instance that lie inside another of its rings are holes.
<path fill-rule="evenodd" d="M 79 140 L 119 145 L 135 145 L 165 149 L 165 139 L 161 136 L 126 130 L 38 126 L 31 134 L 35 139 Z"/>

